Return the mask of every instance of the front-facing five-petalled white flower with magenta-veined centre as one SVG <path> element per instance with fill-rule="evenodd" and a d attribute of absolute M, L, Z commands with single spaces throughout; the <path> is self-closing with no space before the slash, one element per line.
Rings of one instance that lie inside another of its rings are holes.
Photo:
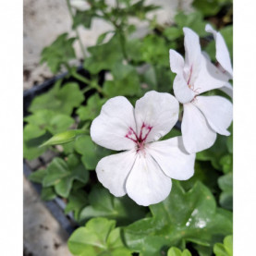
<path fill-rule="evenodd" d="M 171 177 L 184 180 L 194 173 L 195 154 L 185 151 L 181 137 L 159 140 L 177 122 L 178 103 L 169 93 L 147 92 L 135 109 L 127 98 L 108 100 L 91 124 L 91 139 L 111 150 L 97 177 L 116 197 L 125 194 L 140 205 L 165 200 Z"/>

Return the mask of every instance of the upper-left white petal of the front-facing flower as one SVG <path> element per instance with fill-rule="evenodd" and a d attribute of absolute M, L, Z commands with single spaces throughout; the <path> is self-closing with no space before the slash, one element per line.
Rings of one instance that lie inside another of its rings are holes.
<path fill-rule="evenodd" d="M 91 139 L 111 150 L 129 150 L 135 147 L 132 140 L 126 138 L 128 129 L 136 131 L 134 109 L 128 99 L 117 96 L 108 100 L 91 124 Z"/>

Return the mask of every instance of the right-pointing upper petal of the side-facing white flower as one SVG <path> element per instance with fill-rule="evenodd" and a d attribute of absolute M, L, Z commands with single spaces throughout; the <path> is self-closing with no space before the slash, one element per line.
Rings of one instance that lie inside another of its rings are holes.
<path fill-rule="evenodd" d="M 199 94 L 225 86 L 228 77 L 213 65 L 206 55 L 201 55 L 201 69 L 194 81 L 194 91 Z"/>

